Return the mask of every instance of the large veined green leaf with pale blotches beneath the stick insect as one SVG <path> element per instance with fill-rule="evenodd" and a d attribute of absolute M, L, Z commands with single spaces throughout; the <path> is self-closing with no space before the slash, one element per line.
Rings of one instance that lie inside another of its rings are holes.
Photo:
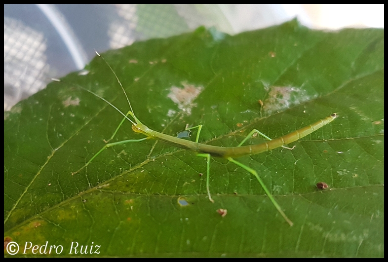
<path fill-rule="evenodd" d="M 337 113 L 292 151 L 238 158 L 294 226 L 226 159 L 212 158 L 211 203 L 205 159 L 160 141 L 109 148 L 72 175 L 123 118 L 80 87 L 129 110 L 96 57 L 4 113 L 4 245 L 28 257 L 46 257 L 23 253 L 45 243 L 60 253 L 50 256 L 384 256 L 384 30 L 313 31 L 296 20 L 236 36 L 198 28 L 102 57 L 136 116 L 171 136 L 203 124 L 201 143 L 233 147 L 253 128 L 276 138 Z M 125 121 L 112 141 L 143 137 Z"/>

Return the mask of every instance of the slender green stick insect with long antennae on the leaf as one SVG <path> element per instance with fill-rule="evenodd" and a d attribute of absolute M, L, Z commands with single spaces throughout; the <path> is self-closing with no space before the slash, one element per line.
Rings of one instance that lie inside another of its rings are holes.
<path fill-rule="evenodd" d="M 100 56 L 100 54 L 98 54 L 96 52 L 96 54 Z M 330 123 L 331 121 L 333 121 L 336 117 L 337 117 L 337 114 L 336 113 L 333 113 L 331 115 L 329 115 L 328 117 L 324 118 L 324 119 L 321 119 L 319 121 L 317 121 L 316 123 L 313 123 L 313 124 L 310 124 L 306 127 L 303 127 L 301 129 L 298 129 L 294 132 L 291 132 L 287 135 L 284 135 L 284 136 L 281 136 L 279 138 L 276 138 L 276 139 L 271 139 L 269 138 L 268 136 L 264 135 L 263 133 L 261 133 L 260 131 L 256 130 L 256 129 L 253 129 L 242 141 L 241 143 L 237 146 L 237 147 L 230 147 L 230 148 L 223 148 L 223 147 L 216 147 L 216 146 L 210 146 L 210 145 L 205 145 L 205 144 L 200 144 L 198 143 L 198 140 L 199 140 L 199 134 L 201 132 L 201 129 L 202 129 L 202 125 L 197 125 L 197 126 L 194 126 L 194 127 L 190 127 L 190 128 L 186 128 L 186 130 L 189 130 L 189 129 L 194 129 L 194 128 L 197 128 L 197 134 L 196 134 L 196 138 L 195 138 L 195 142 L 192 142 L 192 141 L 189 141 L 189 140 L 184 140 L 184 139 L 180 139 L 180 138 L 177 138 L 177 137 L 172 137 L 172 136 L 169 136 L 169 135 L 166 135 L 166 134 L 163 134 L 163 133 L 160 133 L 160 132 L 157 132 L 155 130 L 152 130 L 150 129 L 149 127 L 147 127 L 145 124 L 143 124 L 135 115 L 135 113 L 133 112 L 133 109 L 132 109 L 132 106 L 131 106 L 131 103 L 129 102 L 129 98 L 124 90 L 124 87 L 122 86 L 120 80 L 118 79 L 115 71 L 112 69 L 112 67 L 108 64 L 108 62 L 106 62 L 106 60 L 101 57 L 104 62 L 108 65 L 108 67 L 110 68 L 110 70 L 112 71 L 112 73 L 115 75 L 116 77 L 116 80 L 117 82 L 119 83 L 122 91 L 124 92 L 125 94 L 125 97 L 126 97 L 126 100 L 129 104 L 129 112 L 127 112 L 126 114 L 124 114 L 123 112 L 121 112 L 119 109 L 117 109 L 111 102 L 107 101 L 105 98 L 97 95 L 96 93 L 90 91 L 90 90 L 87 90 L 81 86 L 79 86 L 81 89 L 93 94 L 94 96 L 100 98 L 101 100 L 103 100 L 104 102 L 108 103 L 111 107 L 113 107 L 117 112 L 119 112 L 120 114 L 122 114 L 124 116 L 124 118 L 122 119 L 122 121 L 119 123 L 119 125 L 117 126 L 113 136 L 111 137 L 111 139 L 109 139 L 108 141 L 112 140 L 118 129 L 120 128 L 120 126 L 123 124 L 123 122 L 125 120 L 128 120 L 132 123 L 132 130 L 136 133 L 141 133 L 143 135 L 145 135 L 146 137 L 145 138 L 142 138 L 142 139 L 129 139 L 129 140 L 123 140 L 123 141 L 118 141 L 118 142 L 115 142 L 115 143 L 109 143 L 109 144 L 106 144 L 101 150 L 99 150 L 97 153 L 95 153 L 89 161 L 86 162 L 85 165 L 83 165 L 80 169 L 78 169 L 76 172 L 73 172 L 72 174 L 76 174 L 78 173 L 80 170 L 82 170 L 83 168 L 87 167 L 93 160 L 94 158 L 96 158 L 102 151 L 106 150 L 107 148 L 110 148 L 110 147 L 113 147 L 113 146 L 116 146 L 116 145 L 122 145 L 122 144 L 126 144 L 126 143 L 135 143 L 135 142 L 141 142 L 141 141 L 145 141 L 147 139 L 157 139 L 157 140 L 160 140 L 160 141 L 163 141 L 163 142 L 166 142 L 170 145 L 173 145 L 175 147 L 178 147 L 178 148 L 182 148 L 182 149 L 185 149 L 185 150 L 192 150 L 194 152 L 196 152 L 196 155 L 197 156 L 200 156 L 200 157 L 205 157 L 207 159 L 207 170 L 206 170 L 206 191 L 207 191 L 207 195 L 208 195 L 208 198 L 211 202 L 214 202 L 214 200 L 212 199 L 211 195 L 210 195 L 210 189 L 209 189 L 209 177 L 210 177 L 210 157 L 211 156 L 215 156 L 215 157 L 223 157 L 223 158 L 226 158 L 228 159 L 230 162 L 238 165 L 239 167 L 245 169 L 246 171 L 248 171 L 249 173 L 251 173 L 252 175 L 254 175 L 257 179 L 257 181 L 259 181 L 260 185 L 263 187 L 264 191 L 266 192 L 266 194 L 268 195 L 268 197 L 270 198 L 272 204 L 275 206 L 275 208 L 277 209 L 277 211 L 281 214 L 281 216 L 284 218 L 284 220 L 289 224 L 289 225 L 293 225 L 292 221 L 286 216 L 286 214 L 284 214 L 284 212 L 281 210 L 279 204 L 276 202 L 276 200 L 273 198 L 270 190 L 268 190 L 268 188 L 266 187 L 266 185 L 264 184 L 264 182 L 261 180 L 261 178 L 259 177 L 259 175 L 257 174 L 257 172 L 255 170 L 253 170 L 252 168 L 234 160 L 234 158 L 237 158 L 237 157 L 240 157 L 240 156 L 245 156 L 245 155 L 253 155 L 253 154 L 258 154 L 258 153 L 262 153 L 262 152 L 265 152 L 265 151 L 268 151 L 268 150 L 273 150 L 273 149 L 276 149 L 276 148 L 279 148 L 279 147 L 283 147 L 285 149 L 289 149 L 289 150 L 292 150 L 293 148 L 286 148 L 284 145 L 287 145 L 287 144 L 290 144 L 294 141 L 297 141 L 298 139 L 301 139 L 309 134 L 311 134 L 312 132 L 316 131 L 317 129 L 321 128 L 322 126 Z M 128 116 L 131 116 L 131 118 L 129 118 Z M 242 146 L 242 144 L 245 143 L 246 140 L 248 140 L 250 137 L 252 137 L 254 134 L 260 134 L 261 136 L 263 136 L 264 138 L 266 138 L 267 140 L 269 140 L 268 142 L 265 142 L 265 143 L 262 143 L 262 144 L 258 144 L 258 145 L 250 145 L 250 146 Z"/>

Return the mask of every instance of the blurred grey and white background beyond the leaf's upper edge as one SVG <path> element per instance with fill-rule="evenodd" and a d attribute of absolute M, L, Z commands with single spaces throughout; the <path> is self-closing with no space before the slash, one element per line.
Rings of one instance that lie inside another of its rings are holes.
<path fill-rule="evenodd" d="M 198 26 L 231 35 L 297 17 L 313 29 L 384 28 L 384 4 L 4 4 L 4 111 L 103 52 Z"/>

